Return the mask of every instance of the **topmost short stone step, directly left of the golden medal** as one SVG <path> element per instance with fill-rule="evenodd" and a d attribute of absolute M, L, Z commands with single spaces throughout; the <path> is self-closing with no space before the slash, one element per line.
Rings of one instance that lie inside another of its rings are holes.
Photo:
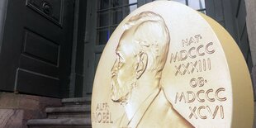
<path fill-rule="evenodd" d="M 64 98 L 61 100 L 64 106 L 90 104 L 92 96 Z"/>

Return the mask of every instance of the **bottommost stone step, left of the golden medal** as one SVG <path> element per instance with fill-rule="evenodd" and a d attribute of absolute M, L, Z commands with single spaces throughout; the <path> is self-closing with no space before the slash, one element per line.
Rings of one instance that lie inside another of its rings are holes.
<path fill-rule="evenodd" d="M 63 118 L 63 119 L 33 119 L 27 121 L 28 126 L 91 126 L 90 117 L 87 118 Z"/>

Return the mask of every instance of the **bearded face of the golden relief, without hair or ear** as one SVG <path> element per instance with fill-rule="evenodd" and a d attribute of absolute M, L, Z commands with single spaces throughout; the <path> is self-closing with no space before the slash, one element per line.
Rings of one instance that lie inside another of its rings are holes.
<path fill-rule="evenodd" d="M 130 40 L 121 38 L 116 48 L 116 62 L 111 69 L 111 99 L 113 102 L 126 102 L 135 86 L 136 58 Z"/>

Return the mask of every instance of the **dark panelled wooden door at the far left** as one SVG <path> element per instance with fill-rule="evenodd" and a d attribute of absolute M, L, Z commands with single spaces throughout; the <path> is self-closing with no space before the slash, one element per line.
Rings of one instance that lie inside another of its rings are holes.
<path fill-rule="evenodd" d="M 0 89 L 67 97 L 73 0 L 9 0 L 0 54 Z"/>

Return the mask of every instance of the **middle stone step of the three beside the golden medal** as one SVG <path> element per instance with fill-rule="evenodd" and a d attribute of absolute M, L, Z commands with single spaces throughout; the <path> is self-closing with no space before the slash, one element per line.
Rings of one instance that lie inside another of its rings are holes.
<path fill-rule="evenodd" d="M 81 107 L 47 107 L 45 112 L 48 118 L 66 117 L 90 117 L 91 107 L 84 105 Z"/>

